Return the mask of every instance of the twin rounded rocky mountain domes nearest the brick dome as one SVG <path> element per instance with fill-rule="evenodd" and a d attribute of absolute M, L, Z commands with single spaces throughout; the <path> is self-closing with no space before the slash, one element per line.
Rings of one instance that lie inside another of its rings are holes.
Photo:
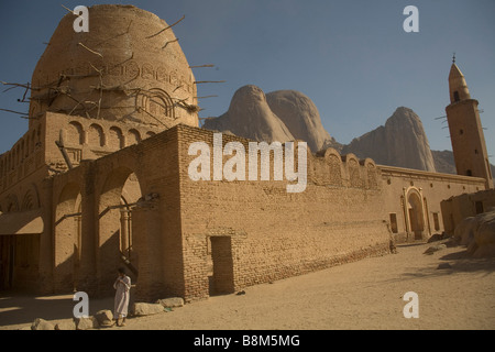
<path fill-rule="evenodd" d="M 265 95 L 256 86 L 238 89 L 229 110 L 206 120 L 204 128 L 265 142 L 302 140 L 314 152 L 330 140 L 318 109 L 307 96 L 295 90 Z"/>

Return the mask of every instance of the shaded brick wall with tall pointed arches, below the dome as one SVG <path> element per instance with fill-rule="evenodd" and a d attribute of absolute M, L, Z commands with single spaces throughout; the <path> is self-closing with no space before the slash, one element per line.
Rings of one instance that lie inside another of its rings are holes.
<path fill-rule="evenodd" d="M 121 196 L 138 194 L 132 206 L 132 264 L 138 267 L 136 296 L 151 300 L 184 296 L 177 131 L 168 130 L 54 178 L 54 289 L 78 289 L 97 296 L 113 294 L 121 262 Z M 129 187 L 130 179 L 132 187 Z M 151 195 L 156 198 L 150 200 Z M 77 243 L 74 218 L 79 211 Z M 74 266 L 74 245 L 80 246 L 80 268 Z M 64 254 L 65 253 L 65 254 Z"/>

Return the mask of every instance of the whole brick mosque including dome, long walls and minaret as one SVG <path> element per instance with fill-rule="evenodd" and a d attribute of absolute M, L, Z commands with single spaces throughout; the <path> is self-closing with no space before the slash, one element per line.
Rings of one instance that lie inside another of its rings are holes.
<path fill-rule="evenodd" d="M 189 145 L 213 146 L 215 133 L 198 127 L 198 81 L 173 28 L 132 6 L 89 16 L 80 33 L 62 19 L 32 76 L 29 130 L 0 155 L 0 289 L 106 296 L 127 265 L 138 299 L 205 299 L 452 231 L 460 219 L 442 201 L 493 189 L 455 63 L 458 175 L 308 148 L 301 193 L 274 177 L 194 180 Z"/>

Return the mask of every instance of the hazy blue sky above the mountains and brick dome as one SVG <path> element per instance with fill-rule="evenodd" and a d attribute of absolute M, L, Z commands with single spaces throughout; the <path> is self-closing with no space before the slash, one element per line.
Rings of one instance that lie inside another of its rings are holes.
<path fill-rule="evenodd" d="M 174 28 L 198 80 L 200 117 L 227 111 L 234 91 L 295 89 L 311 98 L 323 127 L 341 143 L 384 124 L 397 107 L 421 118 L 432 150 L 451 150 L 441 120 L 449 103 L 452 53 L 480 100 L 488 154 L 495 164 L 494 0 L 151 0 L 132 3 Z M 67 8 L 102 1 L 0 2 L 0 80 L 28 82 Z M 419 33 L 406 33 L 406 6 L 419 9 Z M 0 86 L 0 91 L 6 87 Z M 23 90 L 0 94 L 0 108 L 28 111 Z M 0 111 L 0 153 L 28 122 Z"/>

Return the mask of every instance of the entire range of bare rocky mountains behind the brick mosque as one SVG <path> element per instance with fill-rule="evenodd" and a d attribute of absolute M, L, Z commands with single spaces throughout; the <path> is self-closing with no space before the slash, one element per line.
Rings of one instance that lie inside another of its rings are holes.
<path fill-rule="evenodd" d="M 312 153 L 334 147 L 381 165 L 455 174 L 452 152 L 431 151 L 420 118 L 405 107 L 397 108 L 384 125 L 344 145 L 324 130 L 318 109 L 304 94 L 277 90 L 265 95 L 250 85 L 235 91 L 226 113 L 206 120 L 202 127 L 260 142 L 302 140 Z"/>

